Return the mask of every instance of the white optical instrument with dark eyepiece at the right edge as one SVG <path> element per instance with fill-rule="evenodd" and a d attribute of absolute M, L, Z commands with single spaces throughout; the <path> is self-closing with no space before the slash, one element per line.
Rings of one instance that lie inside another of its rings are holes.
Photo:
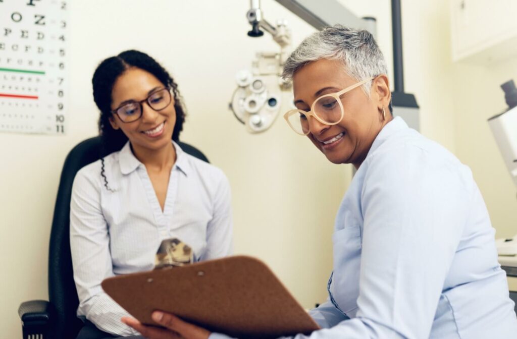
<path fill-rule="evenodd" d="M 517 186 L 517 88 L 513 80 L 505 82 L 501 88 L 505 92 L 508 109 L 488 119 L 488 124 Z M 517 255 L 517 235 L 511 239 L 497 239 L 496 245 L 499 255 Z"/>

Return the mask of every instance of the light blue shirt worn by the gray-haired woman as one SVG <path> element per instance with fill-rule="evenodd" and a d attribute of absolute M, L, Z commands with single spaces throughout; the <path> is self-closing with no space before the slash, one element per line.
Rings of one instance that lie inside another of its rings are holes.
<path fill-rule="evenodd" d="M 472 173 L 401 118 L 359 167 L 332 241 L 329 299 L 310 312 L 323 329 L 311 339 L 517 337 Z"/>

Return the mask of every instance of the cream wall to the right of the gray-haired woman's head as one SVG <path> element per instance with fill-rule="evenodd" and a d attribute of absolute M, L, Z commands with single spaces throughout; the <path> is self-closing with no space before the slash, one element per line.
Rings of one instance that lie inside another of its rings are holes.
<path fill-rule="evenodd" d="M 359 16 L 377 18 L 379 45 L 391 72 L 390 2 L 340 1 L 356 9 Z M 415 94 L 420 105 L 421 133 L 448 148 L 472 169 L 496 237 L 514 236 L 517 188 L 486 120 L 506 109 L 499 86 L 510 79 L 517 81 L 517 57 L 494 65 L 452 63 L 447 0 L 403 0 L 402 18 L 405 91 Z M 509 279 L 509 285 L 517 290 L 517 278 Z"/>

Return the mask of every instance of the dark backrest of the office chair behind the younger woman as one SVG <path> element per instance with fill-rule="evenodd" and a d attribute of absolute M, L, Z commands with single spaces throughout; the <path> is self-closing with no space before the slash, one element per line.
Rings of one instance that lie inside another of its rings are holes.
<path fill-rule="evenodd" d="M 197 148 L 181 142 L 178 144 L 185 152 L 208 162 Z M 76 316 L 79 299 L 70 254 L 70 198 L 75 174 L 99 160 L 100 154 L 100 136 L 79 143 L 68 153 L 59 180 L 49 247 L 49 301 L 53 307 L 52 337 L 55 338 L 74 338 L 83 325 Z"/>

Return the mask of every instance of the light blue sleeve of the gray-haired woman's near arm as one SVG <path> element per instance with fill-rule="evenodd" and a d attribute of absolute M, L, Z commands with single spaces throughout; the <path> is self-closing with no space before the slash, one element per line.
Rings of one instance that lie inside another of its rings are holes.
<path fill-rule="evenodd" d="M 467 220 L 472 177 L 413 146 L 369 165 L 356 318 L 296 339 L 429 337 Z"/>

